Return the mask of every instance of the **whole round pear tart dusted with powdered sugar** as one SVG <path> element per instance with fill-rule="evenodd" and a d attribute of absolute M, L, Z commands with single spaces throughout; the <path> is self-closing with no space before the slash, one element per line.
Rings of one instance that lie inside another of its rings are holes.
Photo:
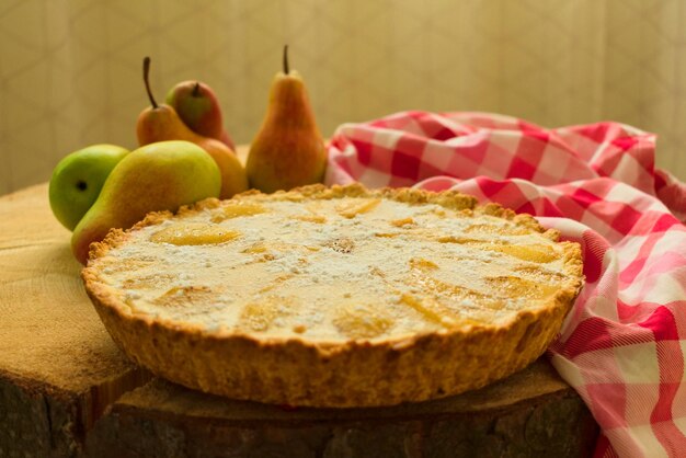
<path fill-rule="evenodd" d="M 582 284 L 580 248 L 457 192 L 312 185 L 150 214 L 91 245 L 114 341 L 190 388 L 389 405 L 524 368 Z"/>

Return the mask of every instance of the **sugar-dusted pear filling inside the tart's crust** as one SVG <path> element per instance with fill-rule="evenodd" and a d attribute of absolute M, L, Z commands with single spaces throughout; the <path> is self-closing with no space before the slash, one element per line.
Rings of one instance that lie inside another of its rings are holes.
<path fill-rule="evenodd" d="M 260 211 L 244 215 L 227 209 L 235 205 L 227 201 L 133 231 L 93 266 L 101 265 L 101 280 L 136 313 L 209 333 L 313 340 L 495 324 L 536 307 L 564 282 L 563 250 L 512 221 L 435 204 L 368 201 L 255 197 Z M 238 236 L 199 244 L 151 241 L 188 225 Z M 514 283 L 503 283 L 511 277 Z"/>

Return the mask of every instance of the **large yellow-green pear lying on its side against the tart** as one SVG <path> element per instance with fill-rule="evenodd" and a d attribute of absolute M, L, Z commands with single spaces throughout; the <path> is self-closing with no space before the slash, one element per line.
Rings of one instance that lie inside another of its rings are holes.
<path fill-rule="evenodd" d="M 140 147 L 112 170 L 93 206 L 71 236 L 73 255 L 85 264 L 92 242 L 110 229 L 127 229 L 150 211 L 175 211 L 182 205 L 218 197 L 219 168 L 190 141 L 159 141 Z"/>

